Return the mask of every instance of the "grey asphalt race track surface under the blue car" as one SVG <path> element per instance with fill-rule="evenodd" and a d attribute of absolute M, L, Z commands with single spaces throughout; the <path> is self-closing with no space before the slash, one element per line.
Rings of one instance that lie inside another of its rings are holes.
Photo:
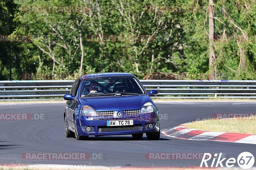
<path fill-rule="evenodd" d="M 256 113 L 255 102 L 156 102 L 161 129 L 212 117 L 214 113 Z M 256 145 L 214 141 L 191 141 L 165 137 L 148 141 L 146 135 L 134 140 L 131 135 L 90 137 L 87 141 L 66 138 L 63 111 L 65 103 L 0 104 L 0 113 L 44 114 L 44 120 L 0 120 L 0 164 L 65 164 L 91 166 L 200 166 L 195 160 L 152 160 L 147 153 L 224 153 L 228 158 L 251 152 Z M 89 153 L 87 160 L 31 160 L 22 153 Z M 102 159 L 92 159 L 92 154 Z M 209 163 L 211 164 L 211 162 Z M 254 164 L 256 166 L 256 163 Z"/>

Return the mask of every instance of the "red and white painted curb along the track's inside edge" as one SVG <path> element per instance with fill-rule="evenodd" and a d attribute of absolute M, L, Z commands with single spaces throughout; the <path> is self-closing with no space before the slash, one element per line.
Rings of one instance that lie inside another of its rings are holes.
<path fill-rule="evenodd" d="M 175 137 L 187 140 L 209 140 L 243 144 L 256 144 L 256 135 L 188 129 L 184 126 L 186 124 L 188 123 L 181 124 L 172 129 L 162 130 L 162 133 L 167 137 Z"/>

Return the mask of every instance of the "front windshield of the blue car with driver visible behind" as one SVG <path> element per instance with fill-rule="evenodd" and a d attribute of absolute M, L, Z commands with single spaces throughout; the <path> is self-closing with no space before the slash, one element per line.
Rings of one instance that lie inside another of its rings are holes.
<path fill-rule="evenodd" d="M 132 76 L 109 76 L 84 79 L 80 90 L 81 97 L 139 95 L 145 94 L 142 86 Z"/>

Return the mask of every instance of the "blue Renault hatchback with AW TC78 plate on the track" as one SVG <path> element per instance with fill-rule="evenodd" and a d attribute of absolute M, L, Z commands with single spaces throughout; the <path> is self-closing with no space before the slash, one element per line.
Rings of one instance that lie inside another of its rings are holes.
<path fill-rule="evenodd" d="M 158 140 L 160 124 L 158 110 L 149 93 L 134 75 L 129 73 L 98 73 L 76 79 L 64 111 L 66 137 L 77 140 L 89 136 L 128 135 Z"/>

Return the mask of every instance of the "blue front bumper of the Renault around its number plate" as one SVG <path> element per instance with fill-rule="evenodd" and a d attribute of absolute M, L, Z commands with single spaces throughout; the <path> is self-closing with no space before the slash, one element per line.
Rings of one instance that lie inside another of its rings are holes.
<path fill-rule="evenodd" d="M 78 116 L 77 132 L 79 136 L 107 136 L 107 135 L 126 135 L 133 133 L 158 132 L 159 117 L 158 112 L 126 116 L 108 117 L 108 116 Z M 133 120 L 130 126 L 107 126 L 108 120 Z M 78 122 L 79 121 L 79 122 Z M 149 128 L 148 124 L 153 124 L 153 128 Z M 87 132 L 86 127 L 91 127 L 91 131 Z"/>

